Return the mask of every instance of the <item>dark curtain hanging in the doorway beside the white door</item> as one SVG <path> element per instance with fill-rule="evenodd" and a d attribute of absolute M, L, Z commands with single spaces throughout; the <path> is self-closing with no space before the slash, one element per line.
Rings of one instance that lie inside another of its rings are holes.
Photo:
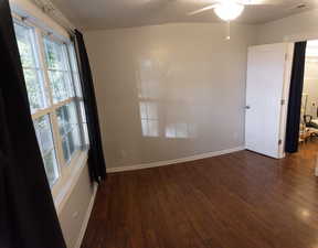
<path fill-rule="evenodd" d="M 286 128 L 286 152 L 297 152 L 300 125 L 301 95 L 304 86 L 304 72 L 307 42 L 295 43 L 292 79 L 289 88 L 287 128 Z"/>

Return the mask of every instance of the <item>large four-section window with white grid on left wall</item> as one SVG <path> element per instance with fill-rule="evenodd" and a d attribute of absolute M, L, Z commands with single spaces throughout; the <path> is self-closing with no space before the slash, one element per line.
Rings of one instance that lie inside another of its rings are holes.
<path fill-rule="evenodd" d="M 74 46 L 14 22 L 30 109 L 51 188 L 88 143 Z"/>

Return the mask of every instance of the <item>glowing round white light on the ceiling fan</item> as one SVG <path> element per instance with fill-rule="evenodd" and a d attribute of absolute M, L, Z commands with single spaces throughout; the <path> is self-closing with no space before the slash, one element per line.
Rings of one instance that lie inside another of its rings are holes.
<path fill-rule="evenodd" d="M 243 10 L 243 4 L 232 1 L 222 2 L 214 8 L 215 14 L 224 21 L 232 21 L 239 18 Z"/>

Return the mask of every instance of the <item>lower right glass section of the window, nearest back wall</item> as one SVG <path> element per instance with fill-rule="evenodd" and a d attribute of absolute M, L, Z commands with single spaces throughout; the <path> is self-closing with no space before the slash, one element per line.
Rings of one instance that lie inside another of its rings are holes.
<path fill-rule="evenodd" d="M 70 161 L 73 153 L 81 149 L 78 117 L 74 103 L 62 106 L 56 111 L 64 160 Z"/>

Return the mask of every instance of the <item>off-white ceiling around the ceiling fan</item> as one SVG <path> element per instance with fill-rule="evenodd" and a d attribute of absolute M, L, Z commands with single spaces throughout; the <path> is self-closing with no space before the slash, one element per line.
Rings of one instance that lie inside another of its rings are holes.
<path fill-rule="evenodd" d="M 236 20 L 256 24 L 318 8 L 318 0 L 248 0 Z M 100 30 L 162 24 L 171 22 L 219 22 L 213 10 L 197 15 L 187 13 L 215 3 L 214 0 L 52 0 L 76 26 Z M 264 3 L 264 6 L 263 6 Z M 297 8 L 299 4 L 304 8 Z"/>

